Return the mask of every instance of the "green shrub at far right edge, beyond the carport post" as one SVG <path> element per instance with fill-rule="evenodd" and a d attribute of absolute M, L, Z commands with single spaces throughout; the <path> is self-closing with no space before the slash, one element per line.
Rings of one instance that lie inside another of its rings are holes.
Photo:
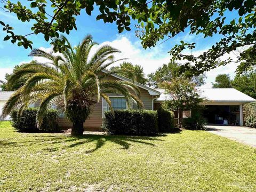
<path fill-rule="evenodd" d="M 246 103 L 243 111 L 245 126 L 256 128 L 256 102 Z"/>

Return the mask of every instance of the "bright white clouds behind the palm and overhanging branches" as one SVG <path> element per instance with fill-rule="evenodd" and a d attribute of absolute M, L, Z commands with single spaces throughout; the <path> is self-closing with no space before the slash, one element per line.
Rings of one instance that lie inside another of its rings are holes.
<path fill-rule="evenodd" d="M 133 63 L 134 65 L 141 65 L 145 71 L 145 74 L 148 75 L 150 73 L 153 73 L 156 71 L 158 67 L 161 67 L 163 63 L 168 63 L 170 61 L 171 56 L 169 53 L 167 53 L 166 50 L 164 50 L 164 45 L 157 45 L 156 47 L 153 47 L 152 49 L 147 49 L 144 50 L 141 47 L 141 44 L 139 41 L 137 42 L 132 42 L 129 38 L 129 36 L 123 36 L 123 35 L 118 35 L 117 38 L 114 41 L 106 41 L 101 43 L 98 46 L 95 46 L 92 50 L 92 53 L 95 52 L 99 48 L 99 46 L 102 45 L 111 45 L 115 47 L 116 49 L 120 50 L 121 53 L 117 53 L 115 55 L 115 59 L 121 59 L 121 58 L 129 58 L 129 62 Z M 46 52 L 51 52 L 52 48 L 45 48 L 45 47 L 40 47 L 39 49 L 42 49 Z M 201 51 L 196 51 L 193 52 L 194 55 L 199 55 L 203 53 L 206 50 L 201 50 Z M 59 54 L 59 53 L 55 53 Z M 235 59 L 236 54 L 230 53 L 229 55 L 224 55 L 221 59 L 227 59 L 228 57 L 231 57 Z M 44 58 L 31 58 L 31 60 L 37 60 L 39 62 L 47 62 L 47 59 Z M 29 62 L 28 61 L 22 61 L 23 62 Z M 113 66 L 119 65 L 123 61 L 119 61 L 115 63 Z M 181 61 L 179 61 L 181 62 Z M 184 62 L 184 61 L 183 61 Z M 181 62 L 181 63 L 183 63 Z M 19 64 L 20 64 L 19 63 Z M 235 76 L 235 70 L 236 70 L 237 65 L 235 63 L 230 63 L 227 66 L 221 66 L 215 69 L 212 69 L 208 72 L 206 72 L 206 84 L 203 87 L 210 88 L 211 87 L 211 82 L 214 82 L 215 77 L 218 74 L 229 74 L 230 77 Z M 0 79 L 4 78 L 5 73 L 10 73 L 12 71 L 12 68 L 0 68 L 1 70 L 1 75 Z M 6 71 L 6 72 L 4 72 Z"/>

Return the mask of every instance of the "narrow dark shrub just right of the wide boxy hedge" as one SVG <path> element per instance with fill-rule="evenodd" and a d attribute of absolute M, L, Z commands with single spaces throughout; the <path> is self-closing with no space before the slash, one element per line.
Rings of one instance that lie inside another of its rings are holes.
<path fill-rule="evenodd" d="M 164 109 L 157 110 L 159 132 L 173 132 L 175 128 L 174 113 Z"/>

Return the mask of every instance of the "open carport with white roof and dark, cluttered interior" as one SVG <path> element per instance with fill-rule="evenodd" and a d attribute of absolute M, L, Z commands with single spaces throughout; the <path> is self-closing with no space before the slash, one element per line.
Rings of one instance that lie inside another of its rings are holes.
<path fill-rule="evenodd" d="M 255 99 L 232 88 L 202 89 L 204 117 L 209 124 L 243 126 L 243 105 Z"/>

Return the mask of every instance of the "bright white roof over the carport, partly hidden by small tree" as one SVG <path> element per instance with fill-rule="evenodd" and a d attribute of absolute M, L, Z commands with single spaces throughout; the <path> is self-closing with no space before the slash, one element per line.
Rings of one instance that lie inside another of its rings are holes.
<path fill-rule="evenodd" d="M 156 101 L 165 101 L 168 95 L 164 93 L 164 90 L 158 89 L 161 92 L 160 97 Z M 221 89 L 201 89 L 199 91 L 201 97 L 208 101 L 220 101 L 220 102 L 254 102 L 256 101 L 252 97 L 233 88 L 221 88 Z"/>

